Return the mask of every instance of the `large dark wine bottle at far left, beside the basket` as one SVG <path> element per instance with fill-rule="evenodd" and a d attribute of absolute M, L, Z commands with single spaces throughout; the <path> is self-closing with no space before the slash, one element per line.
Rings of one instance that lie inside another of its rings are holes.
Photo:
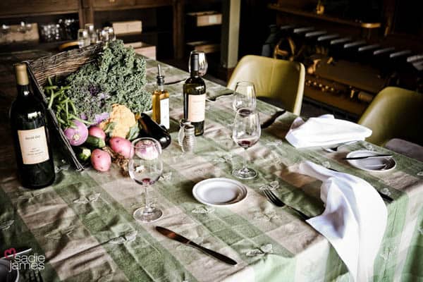
<path fill-rule="evenodd" d="M 15 66 L 18 97 L 10 111 L 13 145 L 20 183 L 39 189 L 53 183 L 54 163 L 44 104 L 30 92 L 25 63 Z"/>

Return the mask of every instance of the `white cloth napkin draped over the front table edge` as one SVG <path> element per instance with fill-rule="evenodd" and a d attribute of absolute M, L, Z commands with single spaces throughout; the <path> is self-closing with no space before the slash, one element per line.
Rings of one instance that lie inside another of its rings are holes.
<path fill-rule="evenodd" d="M 307 222 L 329 240 L 354 281 L 370 281 L 388 216 L 379 193 L 361 178 L 310 161 L 300 164 L 300 173 L 323 182 L 326 209 Z"/>

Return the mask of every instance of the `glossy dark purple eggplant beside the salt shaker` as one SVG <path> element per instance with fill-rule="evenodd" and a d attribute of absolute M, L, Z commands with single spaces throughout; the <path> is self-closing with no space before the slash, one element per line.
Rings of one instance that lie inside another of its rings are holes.
<path fill-rule="evenodd" d="M 159 125 L 144 113 L 141 114 L 138 123 L 140 124 L 140 137 L 150 137 L 159 141 L 161 149 L 171 145 L 171 135 L 164 125 Z"/>

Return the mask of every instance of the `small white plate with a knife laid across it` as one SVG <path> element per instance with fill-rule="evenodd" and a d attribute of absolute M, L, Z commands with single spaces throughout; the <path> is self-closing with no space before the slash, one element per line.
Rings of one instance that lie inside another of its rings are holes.
<path fill-rule="evenodd" d="M 374 156 L 380 154 L 378 152 L 369 151 L 369 150 L 358 150 L 350 152 L 347 155 L 347 158 L 353 157 L 364 157 L 364 156 Z M 360 168 L 363 171 L 391 171 L 396 167 L 396 161 L 393 157 L 380 157 L 372 159 L 350 159 L 348 160 L 351 166 Z"/>

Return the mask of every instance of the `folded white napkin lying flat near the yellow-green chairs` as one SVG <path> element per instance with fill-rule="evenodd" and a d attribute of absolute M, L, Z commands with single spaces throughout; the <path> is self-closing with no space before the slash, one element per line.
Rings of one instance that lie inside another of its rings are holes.
<path fill-rule="evenodd" d="M 357 123 L 336 119 L 331 114 L 309 118 L 295 118 L 286 134 L 286 140 L 294 147 L 335 145 L 353 140 L 364 140 L 372 130 Z"/>

